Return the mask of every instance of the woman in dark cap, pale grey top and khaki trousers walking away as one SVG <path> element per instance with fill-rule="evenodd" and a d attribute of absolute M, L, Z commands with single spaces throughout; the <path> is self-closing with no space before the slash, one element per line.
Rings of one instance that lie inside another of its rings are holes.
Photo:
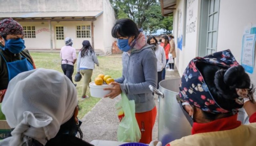
<path fill-rule="evenodd" d="M 99 62 L 96 54 L 90 44 L 89 40 L 84 40 L 82 43 L 83 47 L 78 53 L 78 61 L 76 71 L 84 76 L 83 87 L 82 87 L 82 99 L 88 99 L 86 95 L 87 87 L 92 82 L 92 70 L 94 69 L 94 63 L 99 66 Z"/>

